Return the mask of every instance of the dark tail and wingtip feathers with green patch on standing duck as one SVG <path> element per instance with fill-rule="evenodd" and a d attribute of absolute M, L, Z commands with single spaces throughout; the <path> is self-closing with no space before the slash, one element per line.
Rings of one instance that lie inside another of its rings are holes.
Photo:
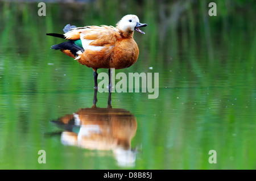
<path fill-rule="evenodd" d="M 72 28 L 76 28 L 76 26 L 71 26 L 70 24 L 67 24 L 63 31 L 66 33 L 70 31 Z M 59 33 L 47 33 L 46 35 L 49 36 L 55 36 L 55 37 L 60 37 L 62 39 L 65 39 L 65 36 Z M 57 44 L 57 45 L 52 45 L 51 49 L 56 49 L 56 50 L 61 50 L 61 52 L 67 54 L 68 56 L 71 56 L 73 58 L 76 58 L 84 52 L 84 48 L 80 45 L 81 40 L 69 40 L 65 41 L 63 43 Z"/>

